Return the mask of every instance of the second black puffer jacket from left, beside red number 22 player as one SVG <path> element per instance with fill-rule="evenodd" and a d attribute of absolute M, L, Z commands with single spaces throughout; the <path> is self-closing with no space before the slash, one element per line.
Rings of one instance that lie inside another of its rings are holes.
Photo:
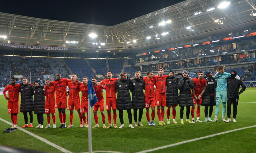
<path fill-rule="evenodd" d="M 35 114 L 45 113 L 45 94 L 43 89 L 44 87 L 41 85 L 33 88 Z"/>

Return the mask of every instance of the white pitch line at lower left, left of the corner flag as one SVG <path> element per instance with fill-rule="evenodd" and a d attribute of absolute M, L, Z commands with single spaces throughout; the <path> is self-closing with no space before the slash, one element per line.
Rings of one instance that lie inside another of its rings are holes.
<path fill-rule="evenodd" d="M 11 122 L 5 121 L 5 120 L 2 119 L 2 118 L 0 118 L 0 120 L 3 121 L 3 122 L 5 122 L 5 123 L 7 123 L 7 124 L 13 125 Z M 50 142 L 50 141 L 48 141 L 48 140 L 46 140 L 46 139 L 44 139 L 44 138 L 42 138 L 42 137 L 39 137 L 39 136 L 35 135 L 34 133 L 31 133 L 31 132 L 29 132 L 29 131 L 27 131 L 27 130 L 25 130 L 25 129 L 22 129 L 21 127 L 18 127 L 18 129 L 19 129 L 19 130 L 22 130 L 23 132 L 29 134 L 29 135 L 32 136 L 32 137 L 35 137 L 35 138 L 37 138 L 37 139 L 39 139 L 39 140 L 45 142 L 45 143 L 48 144 L 48 145 L 53 146 L 54 148 L 56 148 L 56 149 L 58 149 L 58 150 L 60 150 L 60 151 L 62 151 L 62 152 L 65 152 L 65 153 L 72 153 L 72 152 L 68 151 L 67 149 L 62 148 L 61 146 L 58 146 L 58 145 L 56 145 L 56 144 L 53 144 L 52 142 Z"/>

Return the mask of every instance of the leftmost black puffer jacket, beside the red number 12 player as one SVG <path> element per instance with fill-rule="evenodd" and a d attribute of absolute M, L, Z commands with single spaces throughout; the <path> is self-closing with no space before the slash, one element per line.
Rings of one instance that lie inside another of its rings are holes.
<path fill-rule="evenodd" d="M 33 89 L 32 86 L 20 83 L 20 112 L 34 111 Z"/>

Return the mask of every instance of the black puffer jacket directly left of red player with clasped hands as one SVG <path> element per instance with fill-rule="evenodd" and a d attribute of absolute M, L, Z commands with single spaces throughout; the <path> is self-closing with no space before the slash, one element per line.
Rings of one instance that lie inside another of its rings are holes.
<path fill-rule="evenodd" d="M 184 84 L 184 77 L 179 79 L 178 81 L 178 89 L 180 89 L 180 106 L 193 106 L 193 99 L 191 94 L 191 89 L 194 89 L 195 85 L 193 80 L 186 78 L 186 82 Z M 187 83 L 189 81 L 189 83 Z"/>

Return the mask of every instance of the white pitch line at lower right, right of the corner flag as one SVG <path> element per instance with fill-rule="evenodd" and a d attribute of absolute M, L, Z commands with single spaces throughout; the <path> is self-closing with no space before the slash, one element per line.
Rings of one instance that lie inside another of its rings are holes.
<path fill-rule="evenodd" d="M 244 129 L 248 129 L 248 128 L 252 128 L 252 127 L 256 127 L 256 125 L 242 127 L 242 128 L 239 128 L 239 129 L 229 130 L 229 131 L 226 131 L 226 132 L 216 133 L 216 134 L 212 134 L 212 135 L 209 135 L 209 136 L 204 136 L 204 137 L 195 138 L 195 139 L 191 139 L 191 140 L 181 141 L 181 142 L 177 142 L 175 144 L 170 144 L 170 145 L 161 146 L 161 147 L 158 147 L 158 148 L 143 150 L 143 151 L 137 152 L 137 153 L 153 152 L 153 151 L 156 151 L 156 150 L 165 149 L 165 148 L 169 148 L 169 147 L 172 147 L 172 146 L 177 146 L 177 145 L 185 144 L 185 143 L 188 143 L 188 142 L 193 142 L 193 141 L 202 140 L 202 139 L 206 139 L 206 138 L 210 138 L 210 137 L 215 137 L 215 136 L 219 136 L 219 135 L 222 135 L 222 134 L 231 133 L 231 132 L 235 132 L 235 131 L 238 131 L 238 130 L 244 130 Z"/>

